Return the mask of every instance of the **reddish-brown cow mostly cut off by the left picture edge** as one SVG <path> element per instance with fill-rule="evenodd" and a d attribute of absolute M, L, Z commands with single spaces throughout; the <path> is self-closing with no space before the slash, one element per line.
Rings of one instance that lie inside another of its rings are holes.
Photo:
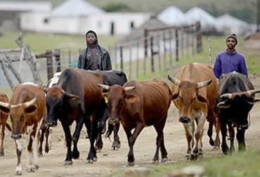
<path fill-rule="evenodd" d="M 0 93 L 0 101 L 8 103 L 8 97 L 5 93 Z M 4 156 L 4 130 L 7 129 L 12 131 L 11 126 L 6 122 L 8 119 L 8 114 L 6 112 L 2 112 L 0 110 L 0 126 L 1 126 L 1 149 L 0 149 L 0 156 Z"/>

